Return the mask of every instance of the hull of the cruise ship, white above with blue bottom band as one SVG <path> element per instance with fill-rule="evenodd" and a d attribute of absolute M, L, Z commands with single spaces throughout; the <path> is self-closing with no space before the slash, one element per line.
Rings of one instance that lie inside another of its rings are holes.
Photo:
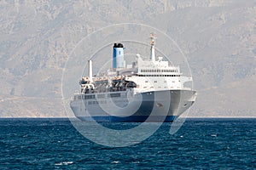
<path fill-rule="evenodd" d="M 87 95 L 87 97 L 85 97 Z M 162 90 L 132 94 L 129 90 L 77 94 L 70 106 L 86 122 L 173 122 L 195 102 L 195 91 Z"/>

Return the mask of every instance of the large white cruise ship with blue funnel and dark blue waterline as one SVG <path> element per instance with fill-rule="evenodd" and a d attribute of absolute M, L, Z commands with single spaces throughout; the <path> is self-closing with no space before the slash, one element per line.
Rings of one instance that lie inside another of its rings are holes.
<path fill-rule="evenodd" d="M 79 81 L 81 89 L 70 102 L 73 113 L 86 122 L 173 122 L 194 104 L 196 92 L 185 86 L 179 66 L 155 57 L 155 34 L 150 35 L 150 55 L 140 54 L 126 65 L 124 45 L 113 44 L 112 68 L 102 76 Z"/>

